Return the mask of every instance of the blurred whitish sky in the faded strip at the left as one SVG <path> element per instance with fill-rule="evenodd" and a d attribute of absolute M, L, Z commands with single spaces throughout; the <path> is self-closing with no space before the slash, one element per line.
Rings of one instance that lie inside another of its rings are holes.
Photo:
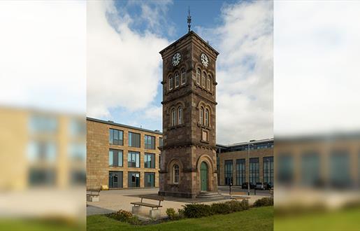
<path fill-rule="evenodd" d="M 85 10 L 77 1 L 0 1 L 0 104 L 85 113 Z"/>

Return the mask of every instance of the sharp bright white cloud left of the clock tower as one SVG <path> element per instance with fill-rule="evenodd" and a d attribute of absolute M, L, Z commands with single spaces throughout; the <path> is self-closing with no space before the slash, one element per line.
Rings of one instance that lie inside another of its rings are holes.
<path fill-rule="evenodd" d="M 131 21 L 113 2 L 87 2 L 88 116 L 109 117 L 109 109 L 117 107 L 145 109 L 157 94 L 159 50 L 168 41 L 132 31 Z"/>

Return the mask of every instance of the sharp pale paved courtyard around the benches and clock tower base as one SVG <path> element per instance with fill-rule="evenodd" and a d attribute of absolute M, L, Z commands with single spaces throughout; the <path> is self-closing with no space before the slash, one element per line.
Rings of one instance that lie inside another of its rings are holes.
<path fill-rule="evenodd" d="M 87 202 L 87 216 L 94 214 L 109 214 L 113 211 L 118 211 L 119 209 L 124 209 L 131 211 L 132 204 L 130 202 L 139 202 L 140 195 L 151 195 L 157 196 L 159 188 L 149 188 L 149 189 L 124 189 L 124 190 L 108 190 L 101 191 L 100 201 L 99 202 Z M 189 198 L 179 198 L 179 197 L 164 197 L 164 202 L 161 202 L 161 216 L 166 216 L 166 209 L 173 208 L 175 211 L 177 209 L 182 209 L 182 205 L 189 203 L 204 203 L 204 204 L 213 204 L 214 202 L 225 202 L 229 201 L 229 191 L 224 192 L 219 190 L 222 195 L 224 195 L 224 200 L 209 200 L 209 199 L 189 199 Z M 253 193 L 253 192 L 252 192 Z M 240 196 L 240 195 L 238 195 Z M 247 196 L 247 195 L 244 195 Z M 265 195 L 250 195 L 249 203 L 254 203 L 255 200 L 258 200 Z M 144 199 L 144 202 L 147 200 Z M 150 203 L 157 203 L 154 201 L 148 201 Z M 148 216 L 150 208 L 142 207 L 141 216 Z"/>

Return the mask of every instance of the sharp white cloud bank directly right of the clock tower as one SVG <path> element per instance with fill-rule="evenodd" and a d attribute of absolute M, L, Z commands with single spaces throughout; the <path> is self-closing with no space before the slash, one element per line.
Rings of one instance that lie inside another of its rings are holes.
<path fill-rule="evenodd" d="M 223 24 L 201 28 L 217 58 L 217 143 L 273 137 L 273 4 L 222 8 Z"/>

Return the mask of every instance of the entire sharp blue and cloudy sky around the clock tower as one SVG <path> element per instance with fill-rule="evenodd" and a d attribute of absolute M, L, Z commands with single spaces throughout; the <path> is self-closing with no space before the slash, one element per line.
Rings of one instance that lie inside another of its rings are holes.
<path fill-rule="evenodd" d="M 270 1 L 89 1 L 87 116 L 162 130 L 159 51 L 187 33 L 188 8 L 220 53 L 217 143 L 273 137 Z"/>

